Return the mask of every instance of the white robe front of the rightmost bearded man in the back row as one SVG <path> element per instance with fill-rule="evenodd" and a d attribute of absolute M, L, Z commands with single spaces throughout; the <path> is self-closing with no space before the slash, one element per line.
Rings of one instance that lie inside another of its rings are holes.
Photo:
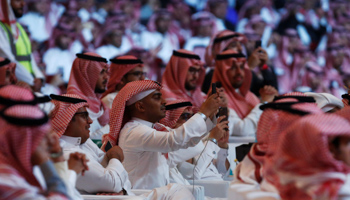
<path fill-rule="evenodd" d="M 233 109 L 229 108 L 228 129 L 230 135 L 255 136 L 258 121 L 262 114 L 262 110 L 259 108 L 260 105 L 257 104 L 244 119 L 241 119 Z"/>

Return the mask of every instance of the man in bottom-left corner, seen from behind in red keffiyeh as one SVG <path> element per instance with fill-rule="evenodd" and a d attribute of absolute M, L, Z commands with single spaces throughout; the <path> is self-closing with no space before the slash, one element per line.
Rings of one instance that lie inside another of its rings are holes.
<path fill-rule="evenodd" d="M 50 161 L 45 113 L 37 106 L 14 105 L 2 112 L 0 126 L 0 199 L 68 199 Z M 46 189 L 33 174 L 36 165 Z"/>

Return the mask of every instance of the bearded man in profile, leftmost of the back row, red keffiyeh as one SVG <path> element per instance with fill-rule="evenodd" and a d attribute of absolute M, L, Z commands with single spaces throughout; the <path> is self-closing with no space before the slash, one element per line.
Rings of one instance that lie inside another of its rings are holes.
<path fill-rule="evenodd" d="M 77 54 L 70 74 L 67 94 L 77 94 L 89 103 L 92 124 L 90 138 L 101 140 L 102 127 L 108 124 L 109 109 L 100 100 L 108 81 L 107 60 L 95 53 Z"/>

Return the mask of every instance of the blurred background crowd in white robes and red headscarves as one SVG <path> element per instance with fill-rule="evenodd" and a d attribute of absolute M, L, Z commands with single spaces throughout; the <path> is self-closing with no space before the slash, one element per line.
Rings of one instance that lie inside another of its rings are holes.
<path fill-rule="evenodd" d="M 65 93 L 75 54 L 87 51 L 107 59 L 135 55 L 149 79 L 161 80 L 172 51 L 183 48 L 209 71 L 208 48 L 226 29 L 244 34 L 248 57 L 261 41 L 280 94 L 340 97 L 350 85 L 348 0 L 26 0 L 18 22 L 58 94 Z"/>

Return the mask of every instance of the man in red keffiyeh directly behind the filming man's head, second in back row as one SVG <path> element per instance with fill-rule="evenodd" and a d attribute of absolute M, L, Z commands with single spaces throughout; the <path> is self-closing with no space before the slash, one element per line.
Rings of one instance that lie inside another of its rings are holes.
<path fill-rule="evenodd" d="M 135 56 L 119 56 L 110 60 L 110 78 L 102 102 L 112 108 L 115 96 L 127 83 L 145 79 L 143 62 Z"/>

